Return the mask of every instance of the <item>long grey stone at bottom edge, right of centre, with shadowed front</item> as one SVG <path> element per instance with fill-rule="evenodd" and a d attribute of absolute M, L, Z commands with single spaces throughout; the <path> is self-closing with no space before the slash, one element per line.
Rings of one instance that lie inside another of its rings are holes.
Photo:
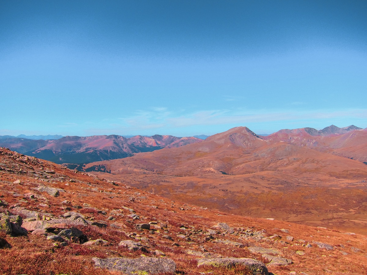
<path fill-rule="evenodd" d="M 246 266 L 253 275 L 268 275 L 268 268 L 261 261 L 251 258 L 203 258 L 198 260 L 197 267 L 212 265 L 214 267 L 233 267 L 234 265 Z"/>

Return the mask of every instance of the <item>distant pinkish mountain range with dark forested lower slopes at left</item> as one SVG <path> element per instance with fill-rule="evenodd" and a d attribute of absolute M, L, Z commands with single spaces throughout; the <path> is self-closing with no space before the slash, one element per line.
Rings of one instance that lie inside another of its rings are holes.
<path fill-rule="evenodd" d="M 167 135 L 133 136 L 130 138 L 118 135 L 65 136 L 57 140 L 33 140 L 2 136 L 0 146 L 58 164 L 74 164 L 70 165 L 70 168 L 74 169 L 79 168 L 84 163 L 124 158 L 139 152 L 154 151 L 165 147 L 175 148 L 201 141 L 202 139 L 196 137 Z"/>

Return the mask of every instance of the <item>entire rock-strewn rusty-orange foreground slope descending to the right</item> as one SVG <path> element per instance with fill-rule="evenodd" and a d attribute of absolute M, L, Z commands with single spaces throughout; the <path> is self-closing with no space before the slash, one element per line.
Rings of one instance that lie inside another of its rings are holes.
<path fill-rule="evenodd" d="M 5 148 L 0 187 L 0 274 L 366 273 L 367 236 L 173 201 Z"/>

